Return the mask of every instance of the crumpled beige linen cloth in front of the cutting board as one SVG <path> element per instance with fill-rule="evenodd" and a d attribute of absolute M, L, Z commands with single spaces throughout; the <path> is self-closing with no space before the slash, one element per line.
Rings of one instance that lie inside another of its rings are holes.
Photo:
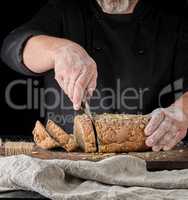
<path fill-rule="evenodd" d="M 148 172 L 145 161 L 130 156 L 100 162 L 0 158 L 0 192 L 20 189 L 57 200 L 187 200 L 188 170 Z"/>

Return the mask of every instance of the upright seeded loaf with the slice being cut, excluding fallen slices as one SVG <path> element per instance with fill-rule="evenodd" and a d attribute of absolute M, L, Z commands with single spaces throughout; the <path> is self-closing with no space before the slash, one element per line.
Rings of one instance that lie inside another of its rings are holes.
<path fill-rule="evenodd" d="M 87 115 L 76 116 L 74 121 L 77 143 L 85 152 L 96 152 L 98 149 L 100 153 L 122 153 L 148 149 L 144 134 L 144 129 L 149 122 L 148 117 L 102 114 L 96 115 L 94 121 L 96 133 Z"/>

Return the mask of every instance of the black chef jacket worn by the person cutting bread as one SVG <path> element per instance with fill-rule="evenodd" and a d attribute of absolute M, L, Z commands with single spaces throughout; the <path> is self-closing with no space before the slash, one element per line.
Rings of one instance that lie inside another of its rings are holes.
<path fill-rule="evenodd" d="M 133 14 L 106 14 L 95 0 L 52 0 L 31 21 L 14 30 L 2 48 L 2 59 L 14 70 L 31 72 L 22 62 L 23 48 L 35 35 L 67 38 L 82 45 L 97 63 L 98 86 L 91 99 L 94 112 L 147 114 L 174 102 L 173 82 L 188 88 L 188 22 L 186 12 L 166 13 L 140 0 Z M 51 118 L 72 132 L 72 103 L 54 80 L 41 74 L 48 92 L 44 104 Z M 170 90 L 169 87 L 170 86 Z M 163 101 L 164 100 L 164 101 Z M 42 105 L 41 105 L 42 106 Z"/>

